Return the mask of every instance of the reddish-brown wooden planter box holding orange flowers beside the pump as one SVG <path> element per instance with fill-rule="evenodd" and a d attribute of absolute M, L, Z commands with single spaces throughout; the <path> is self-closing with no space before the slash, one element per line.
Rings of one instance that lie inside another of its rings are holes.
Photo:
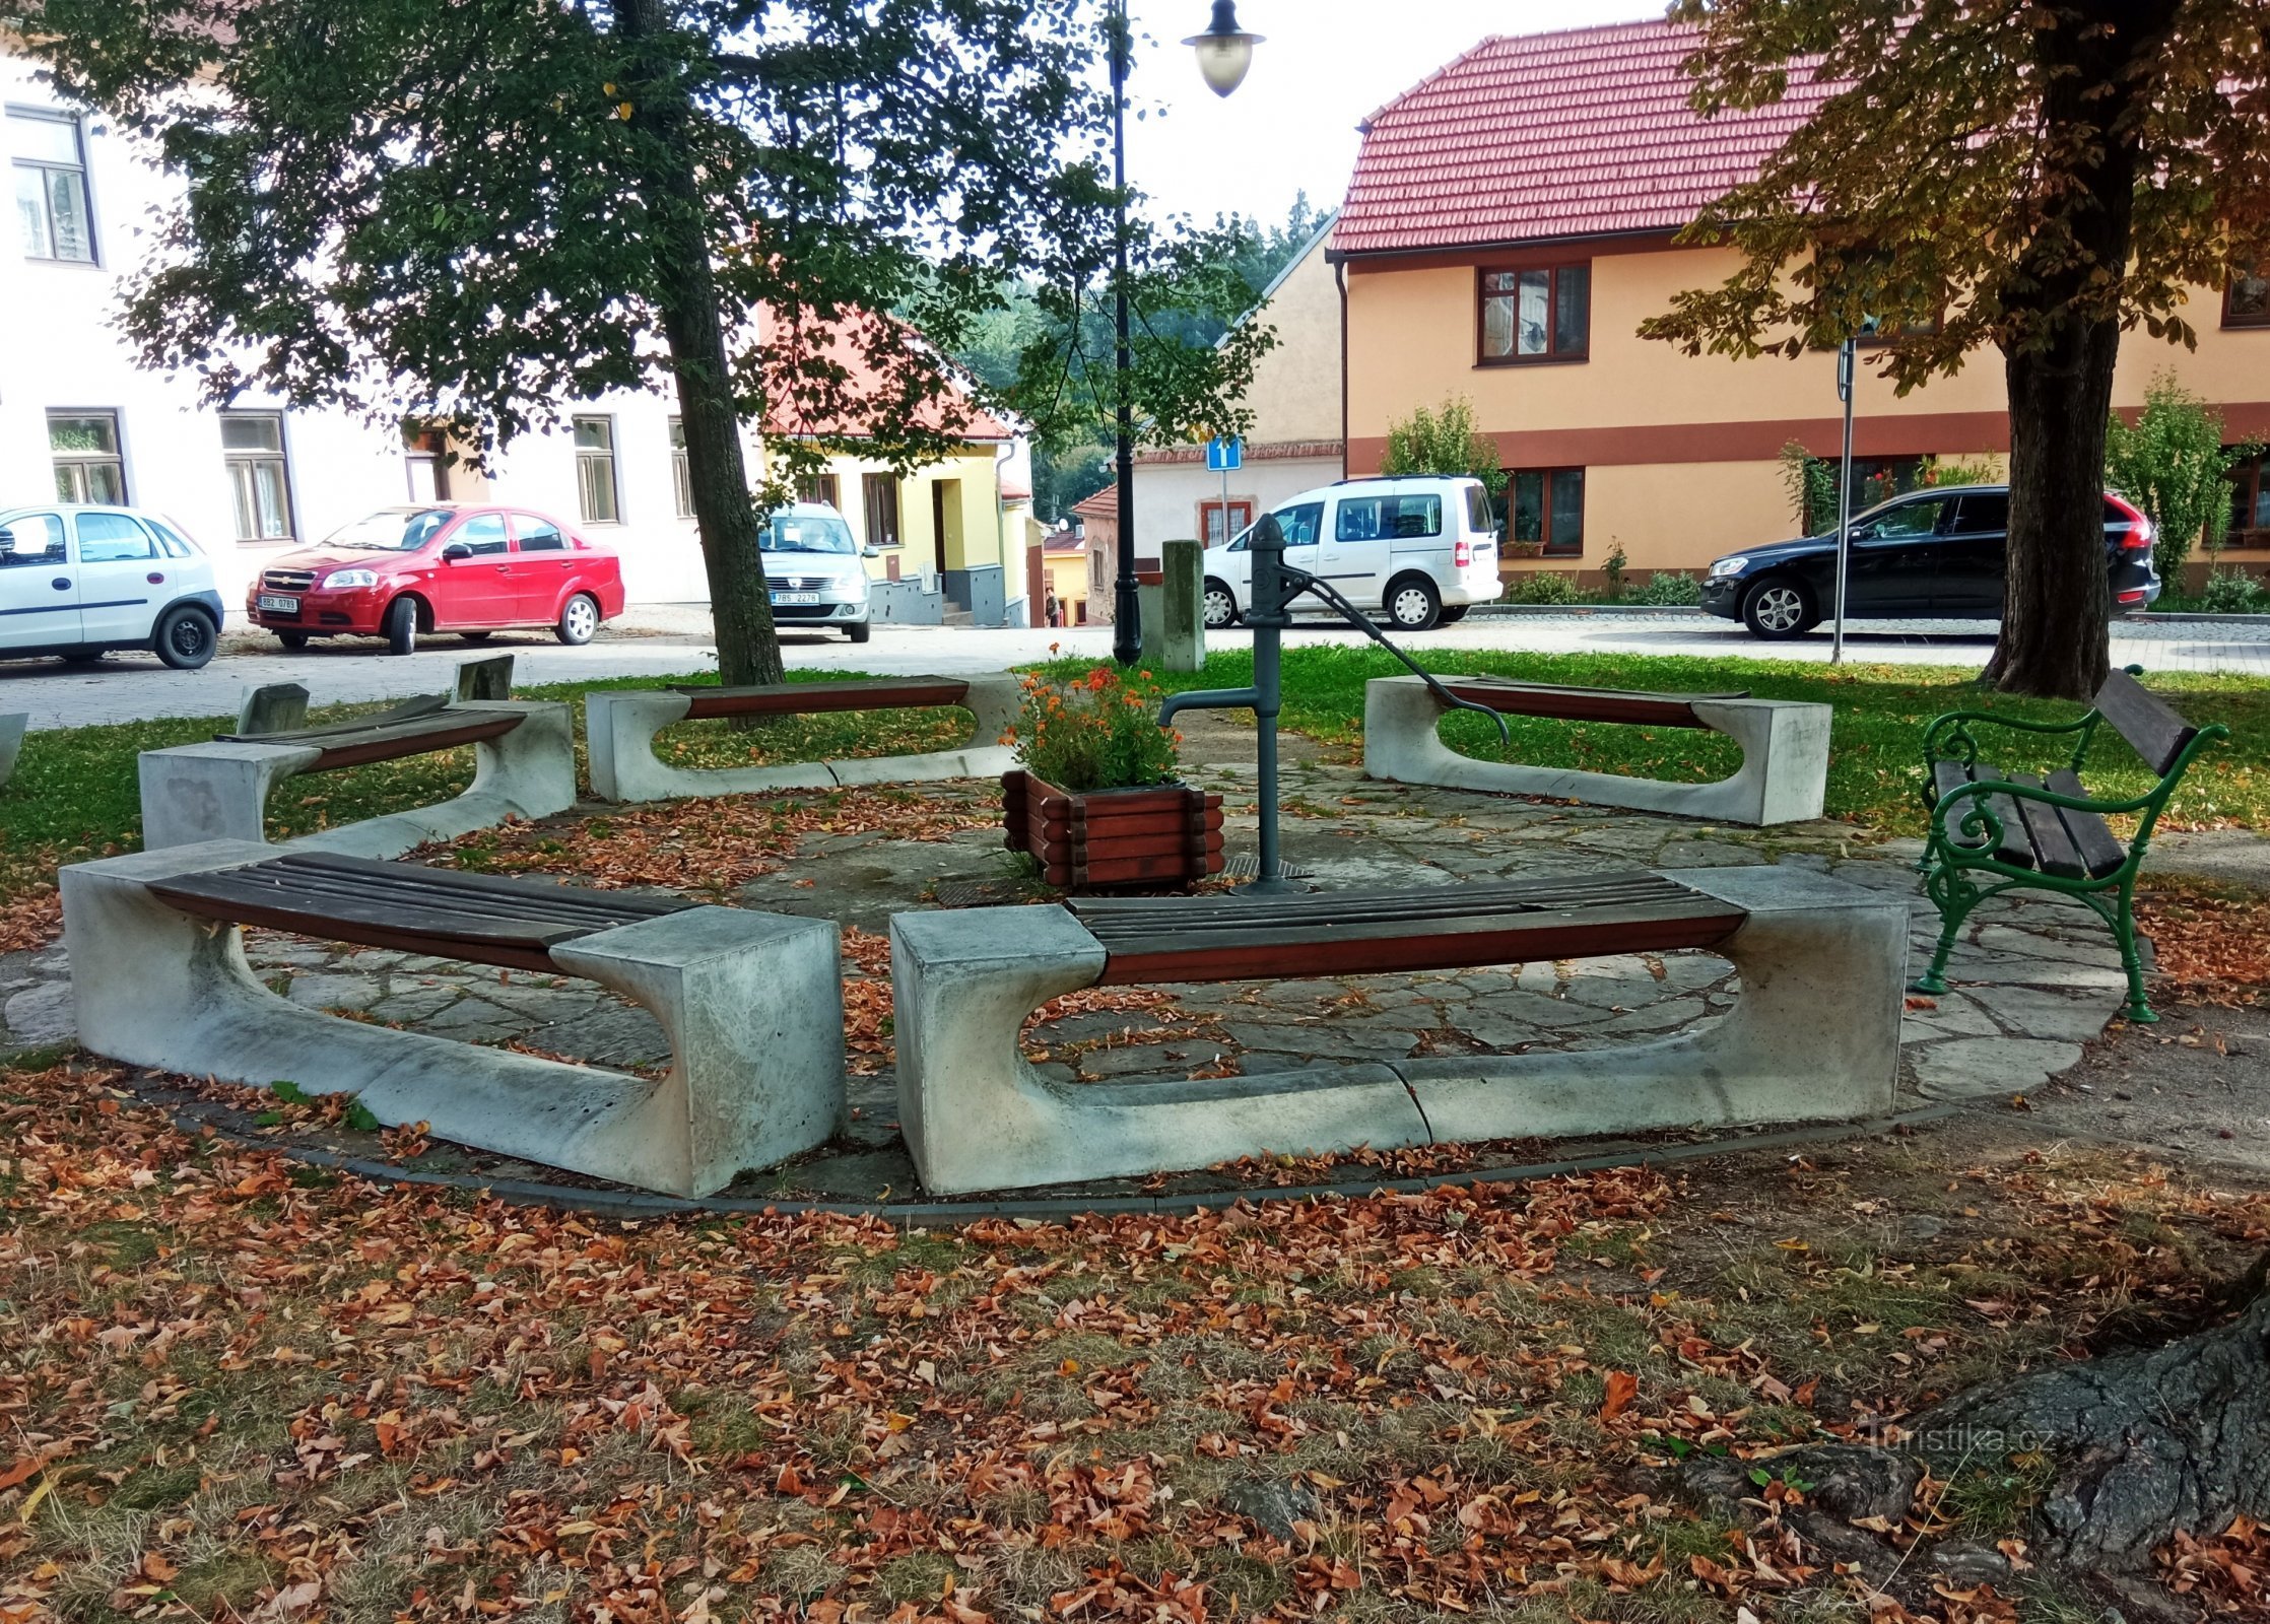
<path fill-rule="evenodd" d="M 1001 773 L 1010 851 L 1067 891 L 1105 885 L 1192 885 L 1221 873 L 1221 796 L 1185 785 L 1083 796 L 1028 771 Z"/>

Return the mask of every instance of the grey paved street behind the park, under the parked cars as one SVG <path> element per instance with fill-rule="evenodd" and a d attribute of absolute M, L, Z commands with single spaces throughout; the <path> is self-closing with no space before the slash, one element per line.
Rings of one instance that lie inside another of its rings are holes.
<path fill-rule="evenodd" d="M 1217 635 L 1237 646 L 1248 633 Z M 1348 628 L 1298 626 L 1298 642 L 1353 644 Z M 790 633 L 792 667 L 878 674 L 999 671 L 1040 660 L 1051 644 L 1065 653 L 1108 658 L 1110 631 L 967 631 L 942 626 L 878 626 L 874 642 Z M 1693 653 L 1707 658 L 1825 660 L 1827 633 L 1762 644 L 1739 626 L 1707 617 L 1641 615 L 1521 615 L 1476 617 L 1460 626 L 1407 637 L 1412 649 L 1507 649 L 1539 653 Z M 572 683 L 602 676 L 674 676 L 715 667 L 708 615 L 699 608 L 642 608 L 583 649 L 565 649 L 547 633 L 499 635 L 484 646 L 436 637 L 409 658 L 390 658 L 375 642 L 316 644 L 284 653 L 266 637 L 232 635 L 220 658 L 202 671 L 168 671 L 148 653 L 111 655 L 98 667 L 57 660 L 0 662 L 0 712 L 30 712 L 34 728 L 73 728 L 93 721 L 145 717 L 234 714 L 245 687 L 306 683 L 318 705 L 404 699 L 449 687 L 456 662 L 474 653 L 513 651 L 522 683 Z M 1875 621 L 1846 640 L 1848 658 L 1893 665 L 1984 665 L 1993 633 L 1979 621 Z M 2197 621 L 2120 624 L 2113 660 L 2152 671 L 2238 671 L 2270 678 L 2270 626 L 2213 626 Z"/>

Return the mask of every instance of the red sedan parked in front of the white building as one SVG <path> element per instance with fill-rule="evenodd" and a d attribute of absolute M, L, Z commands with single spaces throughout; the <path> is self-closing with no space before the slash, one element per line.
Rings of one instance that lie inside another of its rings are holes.
<path fill-rule="evenodd" d="M 527 508 L 379 508 L 320 547 L 284 553 L 245 592 L 245 615 L 286 649 L 309 637 L 386 637 L 411 653 L 429 631 L 549 626 L 586 644 L 622 615 L 622 560 Z"/>

